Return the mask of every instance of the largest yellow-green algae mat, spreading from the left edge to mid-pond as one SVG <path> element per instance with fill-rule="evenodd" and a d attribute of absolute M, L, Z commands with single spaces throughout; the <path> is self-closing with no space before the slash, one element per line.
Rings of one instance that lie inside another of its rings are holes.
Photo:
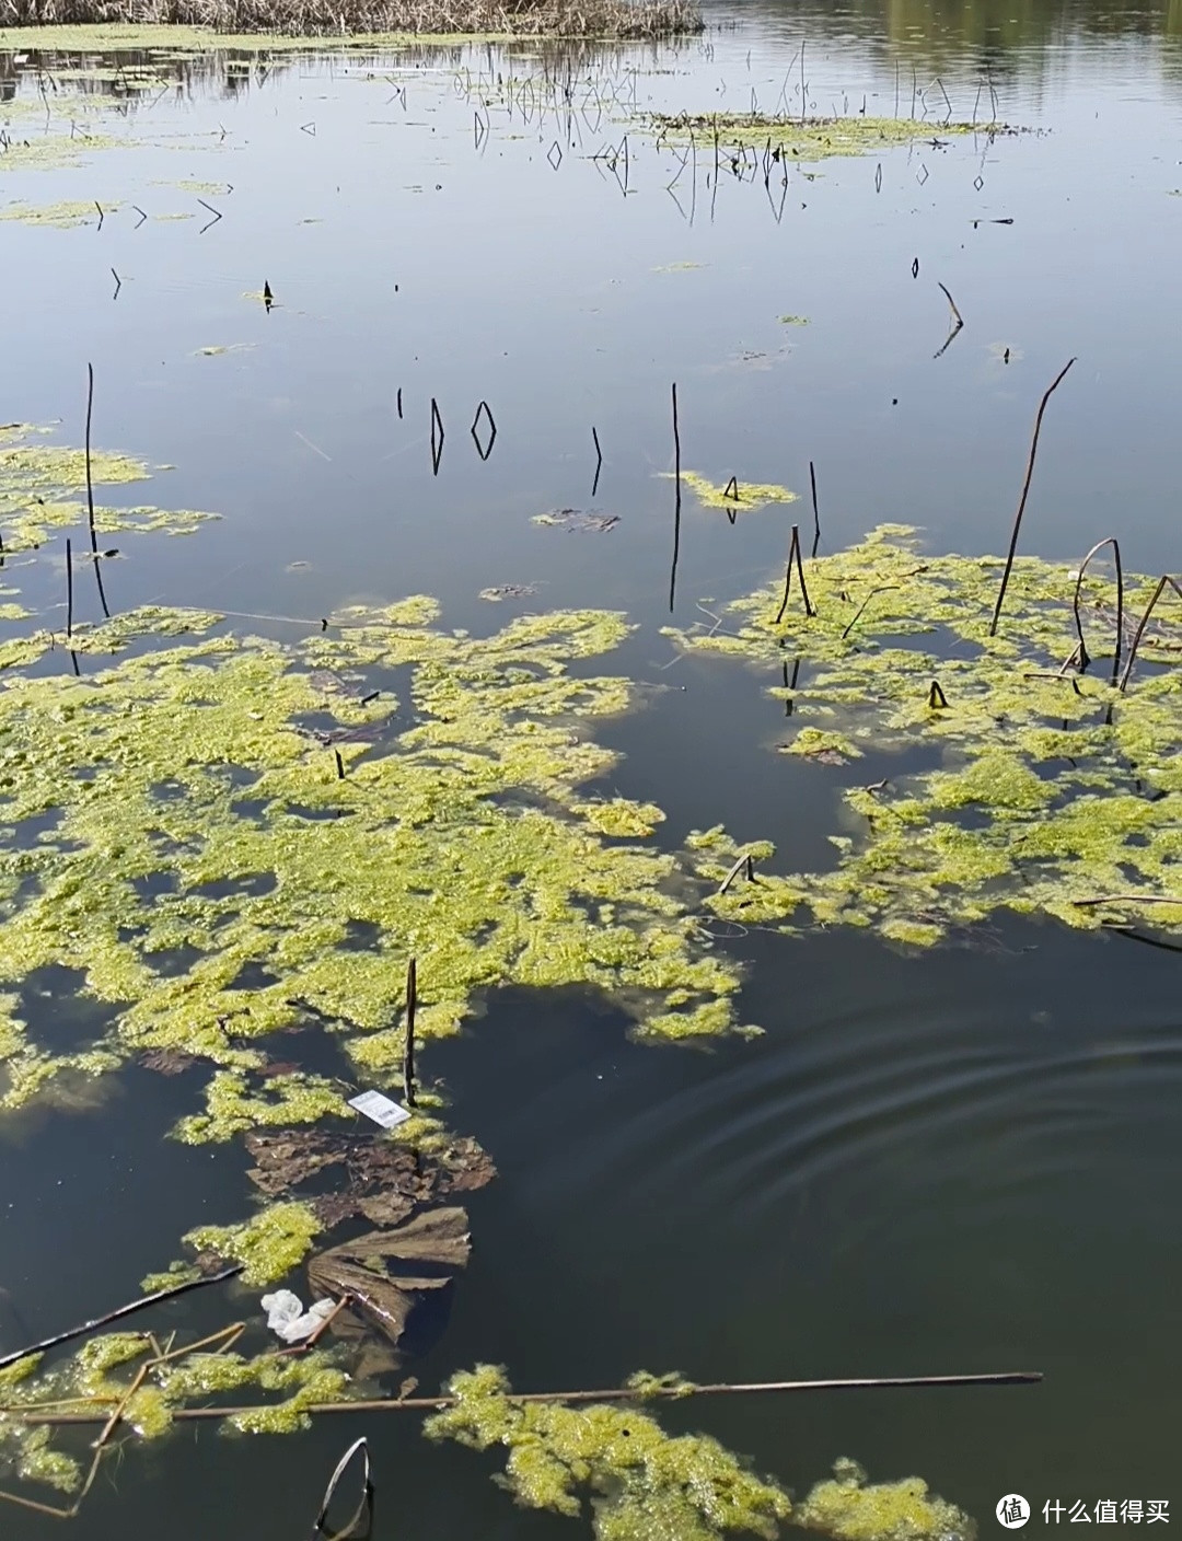
<path fill-rule="evenodd" d="M 489 638 L 433 616 L 413 598 L 294 647 L 222 635 L 82 680 L 0 678 L 0 988 L 59 963 L 116 1008 L 72 1057 L 0 1012 L 0 1106 L 182 1051 L 208 1082 L 185 1139 L 345 1116 L 341 1086 L 276 1074 L 264 1040 L 316 1020 L 388 1082 L 411 955 L 424 1039 L 504 982 L 599 988 L 647 1036 L 734 1026 L 737 971 L 646 843 L 660 811 L 579 795 L 613 763 L 587 726 L 632 687 L 569 666 L 615 646 L 620 616 Z M 83 633 L 96 663 L 136 635 L 109 626 Z M 370 687 L 398 666 L 411 710 Z"/>

